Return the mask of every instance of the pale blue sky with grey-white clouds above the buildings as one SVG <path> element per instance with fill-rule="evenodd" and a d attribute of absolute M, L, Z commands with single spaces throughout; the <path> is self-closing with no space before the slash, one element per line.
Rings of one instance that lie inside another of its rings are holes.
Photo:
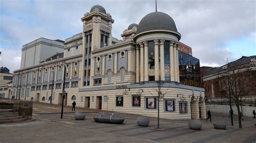
<path fill-rule="evenodd" d="M 44 37 L 65 40 L 83 31 L 80 18 L 102 5 L 114 23 L 112 36 L 155 11 L 154 0 L 0 0 L 0 66 L 14 71 L 22 46 Z M 158 0 L 157 10 L 170 15 L 192 47 L 200 66 L 221 66 L 241 56 L 256 55 L 256 1 Z"/>

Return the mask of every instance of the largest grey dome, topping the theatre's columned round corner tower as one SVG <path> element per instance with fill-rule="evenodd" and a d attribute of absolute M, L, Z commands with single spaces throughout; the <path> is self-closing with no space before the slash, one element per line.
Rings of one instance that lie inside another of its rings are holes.
<path fill-rule="evenodd" d="M 149 30 L 170 30 L 178 32 L 174 20 L 164 12 L 151 12 L 140 20 L 137 34 Z"/>

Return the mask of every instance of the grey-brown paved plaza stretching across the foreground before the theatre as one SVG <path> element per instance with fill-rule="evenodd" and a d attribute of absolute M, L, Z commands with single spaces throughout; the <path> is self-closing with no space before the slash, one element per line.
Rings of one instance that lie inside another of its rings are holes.
<path fill-rule="evenodd" d="M 0 142 L 256 142 L 255 119 L 244 117 L 242 129 L 238 128 L 237 116 L 231 126 L 227 115 L 212 113 L 212 122 L 201 120 L 202 130 L 190 130 L 187 120 L 150 118 L 149 127 L 137 125 L 137 115 L 120 113 L 124 124 L 96 123 L 93 116 L 98 110 L 77 108 L 85 112 L 85 120 L 75 120 L 70 106 L 64 107 L 60 119 L 60 105 L 33 103 L 33 121 L 0 124 Z M 215 120 L 227 120 L 227 130 L 216 130 Z"/>

